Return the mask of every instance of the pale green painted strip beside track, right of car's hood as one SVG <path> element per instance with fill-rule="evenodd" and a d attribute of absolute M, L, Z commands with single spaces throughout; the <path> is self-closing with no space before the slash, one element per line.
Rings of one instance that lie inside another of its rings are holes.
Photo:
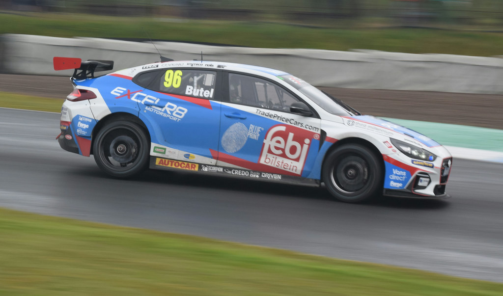
<path fill-rule="evenodd" d="M 503 130 L 383 118 L 422 133 L 442 145 L 503 152 Z"/>

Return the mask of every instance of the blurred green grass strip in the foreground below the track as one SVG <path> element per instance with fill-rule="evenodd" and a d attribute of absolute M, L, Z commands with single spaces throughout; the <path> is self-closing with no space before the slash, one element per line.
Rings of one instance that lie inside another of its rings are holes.
<path fill-rule="evenodd" d="M 5 295 L 500 295 L 503 284 L 0 209 Z"/>

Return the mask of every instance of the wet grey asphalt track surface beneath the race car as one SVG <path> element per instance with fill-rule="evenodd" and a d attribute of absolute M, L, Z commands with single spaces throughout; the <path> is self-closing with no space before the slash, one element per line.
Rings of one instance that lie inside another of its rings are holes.
<path fill-rule="evenodd" d="M 183 172 L 113 179 L 59 147 L 58 121 L 0 108 L 0 207 L 503 282 L 503 164 L 454 159 L 448 200 L 351 205 Z"/>

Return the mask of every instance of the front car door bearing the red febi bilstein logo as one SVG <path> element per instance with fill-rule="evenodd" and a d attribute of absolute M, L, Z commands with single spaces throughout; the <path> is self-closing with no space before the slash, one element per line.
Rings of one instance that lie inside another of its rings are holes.
<path fill-rule="evenodd" d="M 307 176 L 319 148 L 315 112 L 292 113 L 290 106 L 302 101 L 275 81 L 232 72 L 224 72 L 223 81 L 218 164 Z"/>

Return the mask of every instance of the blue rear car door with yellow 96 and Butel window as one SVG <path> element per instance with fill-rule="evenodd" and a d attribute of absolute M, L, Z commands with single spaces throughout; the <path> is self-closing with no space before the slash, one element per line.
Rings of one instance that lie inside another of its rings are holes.
<path fill-rule="evenodd" d="M 220 128 L 221 71 L 169 68 L 157 71 L 153 82 L 136 98 L 140 118 L 151 123 L 151 154 L 215 164 Z"/>

